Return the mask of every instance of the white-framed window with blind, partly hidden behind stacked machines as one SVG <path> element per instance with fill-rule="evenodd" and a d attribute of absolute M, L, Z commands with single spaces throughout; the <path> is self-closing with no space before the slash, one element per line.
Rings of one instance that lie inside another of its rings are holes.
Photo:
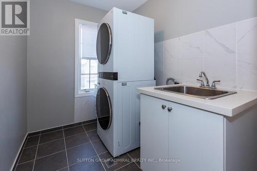
<path fill-rule="evenodd" d="M 76 19 L 75 97 L 92 96 L 98 80 L 97 23 Z"/>

